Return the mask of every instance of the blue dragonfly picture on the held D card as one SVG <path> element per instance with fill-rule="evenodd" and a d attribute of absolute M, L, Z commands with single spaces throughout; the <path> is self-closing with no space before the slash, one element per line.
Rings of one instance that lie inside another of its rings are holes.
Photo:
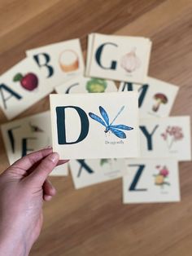
<path fill-rule="evenodd" d="M 113 119 L 113 121 L 109 121 L 109 117 L 107 115 L 107 112 L 105 111 L 105 109 L 101 106 L 99 106 L 99 112 L 101 113 L 103 119 L 101 117 L 98 117 L 97 115 L 95 115 L 94 113 L 89 113 L 89 117 L 91 117 L 92 119 L 94 119 L 94 121 L 98 121 L 100 124 L 102 124 L 103 126 L 106 127 L 106 129 L 104 130 L 105 133 L 107 133 L 108 131 L 111 131 L 114 135 L 116 135 L 118 138 L 120 139 L 125 139 L 126 135 L 122 130 L 133 130 L 132 127 L 130 126 L 124 126 L 124 125 L 116 125 L 116 126 L 112 126 L 112 124 L 114 123 L 114 121 L 116 121 L 116 118 L 120 115 L 120 113 L 124 110 L 124 106 L 122 108 L 120 108 L 120 111 L 116 114 L 116 117 Z M 104 120 L 104 121 L 103 121 Z"/>

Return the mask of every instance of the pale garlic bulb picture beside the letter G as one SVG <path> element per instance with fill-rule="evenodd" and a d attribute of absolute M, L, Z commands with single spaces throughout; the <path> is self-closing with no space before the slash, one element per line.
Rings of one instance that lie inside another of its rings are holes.
<path fill-rule="evenodd" d="M 141 61 L 137 57 L 135 51 L 136 48 L 133 48 L 132 51 L 124 55 L 120 60 L 120 66 L 129 73 L 132 73 L 141 65 Z"/>

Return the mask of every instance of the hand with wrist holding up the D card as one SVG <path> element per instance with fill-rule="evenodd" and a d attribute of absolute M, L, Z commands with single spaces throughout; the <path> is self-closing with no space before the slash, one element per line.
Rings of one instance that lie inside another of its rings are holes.
<path fill-rule="evenodd" d="M 51 148 L 28 154 L 0 175 L 0 256 L 28 255 L 42 226 L 42 204 L 55 195 L 46 179 L 58 164 Z"/>

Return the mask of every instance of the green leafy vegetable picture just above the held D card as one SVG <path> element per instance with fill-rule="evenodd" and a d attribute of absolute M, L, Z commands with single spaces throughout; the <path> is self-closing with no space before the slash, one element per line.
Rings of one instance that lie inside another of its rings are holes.
<path fill-rule="evenodd" d="M 91 78 L 86 83 L 86 90 L 88 92 L 104 92 L 107 88 L 107 82 L 103 79 Z"/>

